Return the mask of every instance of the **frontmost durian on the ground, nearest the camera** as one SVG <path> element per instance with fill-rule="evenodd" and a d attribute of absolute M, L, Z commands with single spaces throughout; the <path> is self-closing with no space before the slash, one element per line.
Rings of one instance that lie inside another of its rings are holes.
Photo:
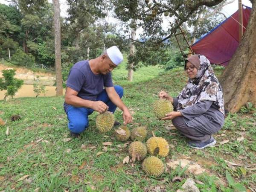
<path fill-rule="evenodd" d="M 158 177 L 164 172 L 164 164 L 159 158 L 150 156 L 143 161 L 142 169 L 146 174 Z"/>

